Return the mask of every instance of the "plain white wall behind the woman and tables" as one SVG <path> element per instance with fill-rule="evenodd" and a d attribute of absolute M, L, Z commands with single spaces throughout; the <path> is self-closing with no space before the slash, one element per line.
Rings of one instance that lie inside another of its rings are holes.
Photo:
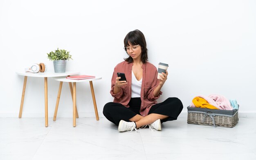
<path fill-rule="evenodd" d="M 0 0 L 0 116 L 18 117 L 23 76 L 16 70 L 44 62 L 47 54 L 69 50 L 67 70 L 98 75 L 94 82 L 99 115 L 112 101 L 110 79 L 127 57 L 123 40 L 139 29 L 149 61 L 169 64 L 158 102 L 221 94 L 236 99 L 240 113 L 256 115 L 256 1 L 253 0 Z M 48 79 L 53 116 L 59 82 Z M 79 116 L 95 116 L 89 83 L 77 84 Z M 44 79 L 28 77 L 23 117 L 44 117 Z M 68 83 L 63 83 L 58 117 L 72 116 Z"/>

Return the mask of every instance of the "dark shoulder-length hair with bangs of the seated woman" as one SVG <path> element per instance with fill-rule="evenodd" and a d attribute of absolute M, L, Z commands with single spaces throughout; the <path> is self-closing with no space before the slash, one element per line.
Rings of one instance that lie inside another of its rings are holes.
<path fill-rule="evenodd" d="M 141 46 L 141 61 L 142 63 L 146 63 L 146 61 L 148 60 L 146 39 L 141 31 L 137 29 L 134 31 L 130 31 L 124 38 L 124 47 L 130 45 L 135 46 L 138 44 Z M 127 61 L 129 64 L 133 62 L 133 59 L 130 56 L 128 58 L 124 58 L 124 60 Z"/>

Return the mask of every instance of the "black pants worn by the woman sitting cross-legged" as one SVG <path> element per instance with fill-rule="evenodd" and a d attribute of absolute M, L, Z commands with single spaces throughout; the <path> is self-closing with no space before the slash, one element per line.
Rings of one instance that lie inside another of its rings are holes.
<path fill-rule="evenodd" d="M 109 102 L 103 108 L 104 116 L 112 123 L 119 125 L 121 120 L 129 122 L 129 119 L 139 114 L 141 99 L 132 98 L 129 102 L 130 107 L 125 107 L 120 103 Z M 183 109 L 182 102 L 180 99 L 172 97 L 166 99 L 162 103 L 157 103 L 153 105 L 148 114 L 162 114 L 168 116 L 167 118 L 161 120 L 161 123 L 166 121 L 176 120 Z"/>

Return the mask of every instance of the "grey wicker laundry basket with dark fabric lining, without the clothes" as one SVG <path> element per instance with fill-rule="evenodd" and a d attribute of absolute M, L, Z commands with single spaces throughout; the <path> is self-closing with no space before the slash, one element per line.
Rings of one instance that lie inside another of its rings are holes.
<path fill-rule="evenodd" d="M 211 110 L 187 107 L 188 123 L 220 127 L 234 127 L 238 123 L 238 110 Z"/>

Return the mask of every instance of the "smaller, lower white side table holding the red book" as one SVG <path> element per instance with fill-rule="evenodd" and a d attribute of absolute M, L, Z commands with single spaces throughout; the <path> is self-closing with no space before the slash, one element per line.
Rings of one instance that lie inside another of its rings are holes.
<path fill-rule="evenodd" d="M 70 90 L 72 88 L 71 83 L 73 82 L 73 88 L 72 88 L 73 92 L 71 92 L 72 100 L 73 100 L 73 127 L 76 127 L 76 118 L 78 118 L 77 109 L 76 109 L 76 83 L 77 82 L 88 82 L 88 81 L 90 82 L 90 88 L 91 88 L 91 92 L 92 92 L 92 101 L 94 104 L 96 120 L 99 121 L 99 114 L 98 114 L 98 110 L 97 110 L 97 104 L 96 104 L 96 100 L 95 100 L 95 94 L 94 94 L 92 81 L 102 79 L 102 77 L 95 77 L 95 78 L 91 78 L 91 79 L 81 79 L 81 80 L 67 79 L 66 77 L 54 77 L 53 79 L 55 79 L 56 81 L 60 81 L 53 121 L 56 121 L 56 116 L 57 116 L 57 112 L 58 112 L 58 104 L 59 104 L 60 97 L 61 97 L 61 88 L 62 88 L 63 82 L 68 82 L 70 84 Z"/>

